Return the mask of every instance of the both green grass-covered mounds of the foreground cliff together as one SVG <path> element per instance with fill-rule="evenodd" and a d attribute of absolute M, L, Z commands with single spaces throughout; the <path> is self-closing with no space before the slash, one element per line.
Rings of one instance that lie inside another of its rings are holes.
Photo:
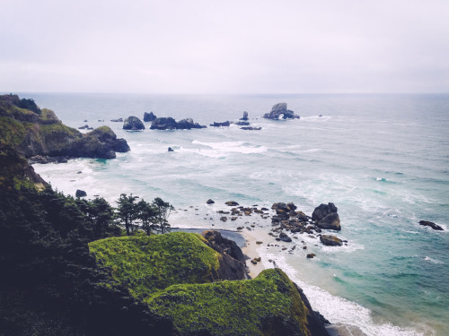
<path fill-rule="evenodd" d="M 283 271 L 209 282 L 219 254 L 197 234 L 107 238 L 90 250 L 135 297 L 172 316 L 180 335 L 309 334 L 307 308 Z"/>

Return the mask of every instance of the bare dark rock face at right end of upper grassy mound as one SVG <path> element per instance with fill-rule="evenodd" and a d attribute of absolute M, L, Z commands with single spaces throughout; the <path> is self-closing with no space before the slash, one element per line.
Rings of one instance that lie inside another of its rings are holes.
<path fill-rule="evenodd" d="M 233 240 L 227 239 L 218 231 L 204 231 L 201 236 L 206 239 L 207 246 L 222 254 L 218 276 L 223 280 L 242 280 L 248 278 L 245 256 Z"/>

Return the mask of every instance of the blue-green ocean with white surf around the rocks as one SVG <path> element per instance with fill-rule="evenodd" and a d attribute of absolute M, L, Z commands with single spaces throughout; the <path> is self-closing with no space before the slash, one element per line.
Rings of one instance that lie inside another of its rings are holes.
<path fill-rule="evenodd" d="M 35 164 L 58 191 L 82 189 L 110 202 L 120 194 L 161 197 L 176 209 L 173 227 L 244 226 L 244 233 L 253 225 L 262 263 L 276 261 L 331 323 L 361 335 L 449 335 L 449 95 L 20 96 L 75 128 L 109 125 L 131 148 L 117 159 Z M 261 118 L 278 102 L 301 118 Z M 145 123 L 145 131 L 127 132 L 110 122 L 150 111 L 201 125 L 236 121 L 247 111 L 262 129 L 154 131 Z M 223 222 L 216 211 L 228 210 L 227 201 L 267 208 L 294 202 L 308 215 L 333 202 L 341 231 L 330 232 L 348 245 L 322 246 L 295 234 L 293 243 L 268 246 L 279 243 L 268 235 L 270 220 Z M 310 253 L 316 257 L 307 259 Z"/>

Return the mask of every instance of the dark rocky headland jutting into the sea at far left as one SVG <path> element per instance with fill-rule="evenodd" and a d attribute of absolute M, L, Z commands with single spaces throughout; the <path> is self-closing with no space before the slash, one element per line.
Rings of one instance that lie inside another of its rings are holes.
<path fill-rule="evenodd" d="M 81 134 L 32 99 L 0 96 L 0 186 L 42 188 L 45 181 L 27 163 L 31 157 L 42 162 L 48 157 L 113 159 L 116 151 L 129 151 L 129 146 L 108 126 Z"/>

